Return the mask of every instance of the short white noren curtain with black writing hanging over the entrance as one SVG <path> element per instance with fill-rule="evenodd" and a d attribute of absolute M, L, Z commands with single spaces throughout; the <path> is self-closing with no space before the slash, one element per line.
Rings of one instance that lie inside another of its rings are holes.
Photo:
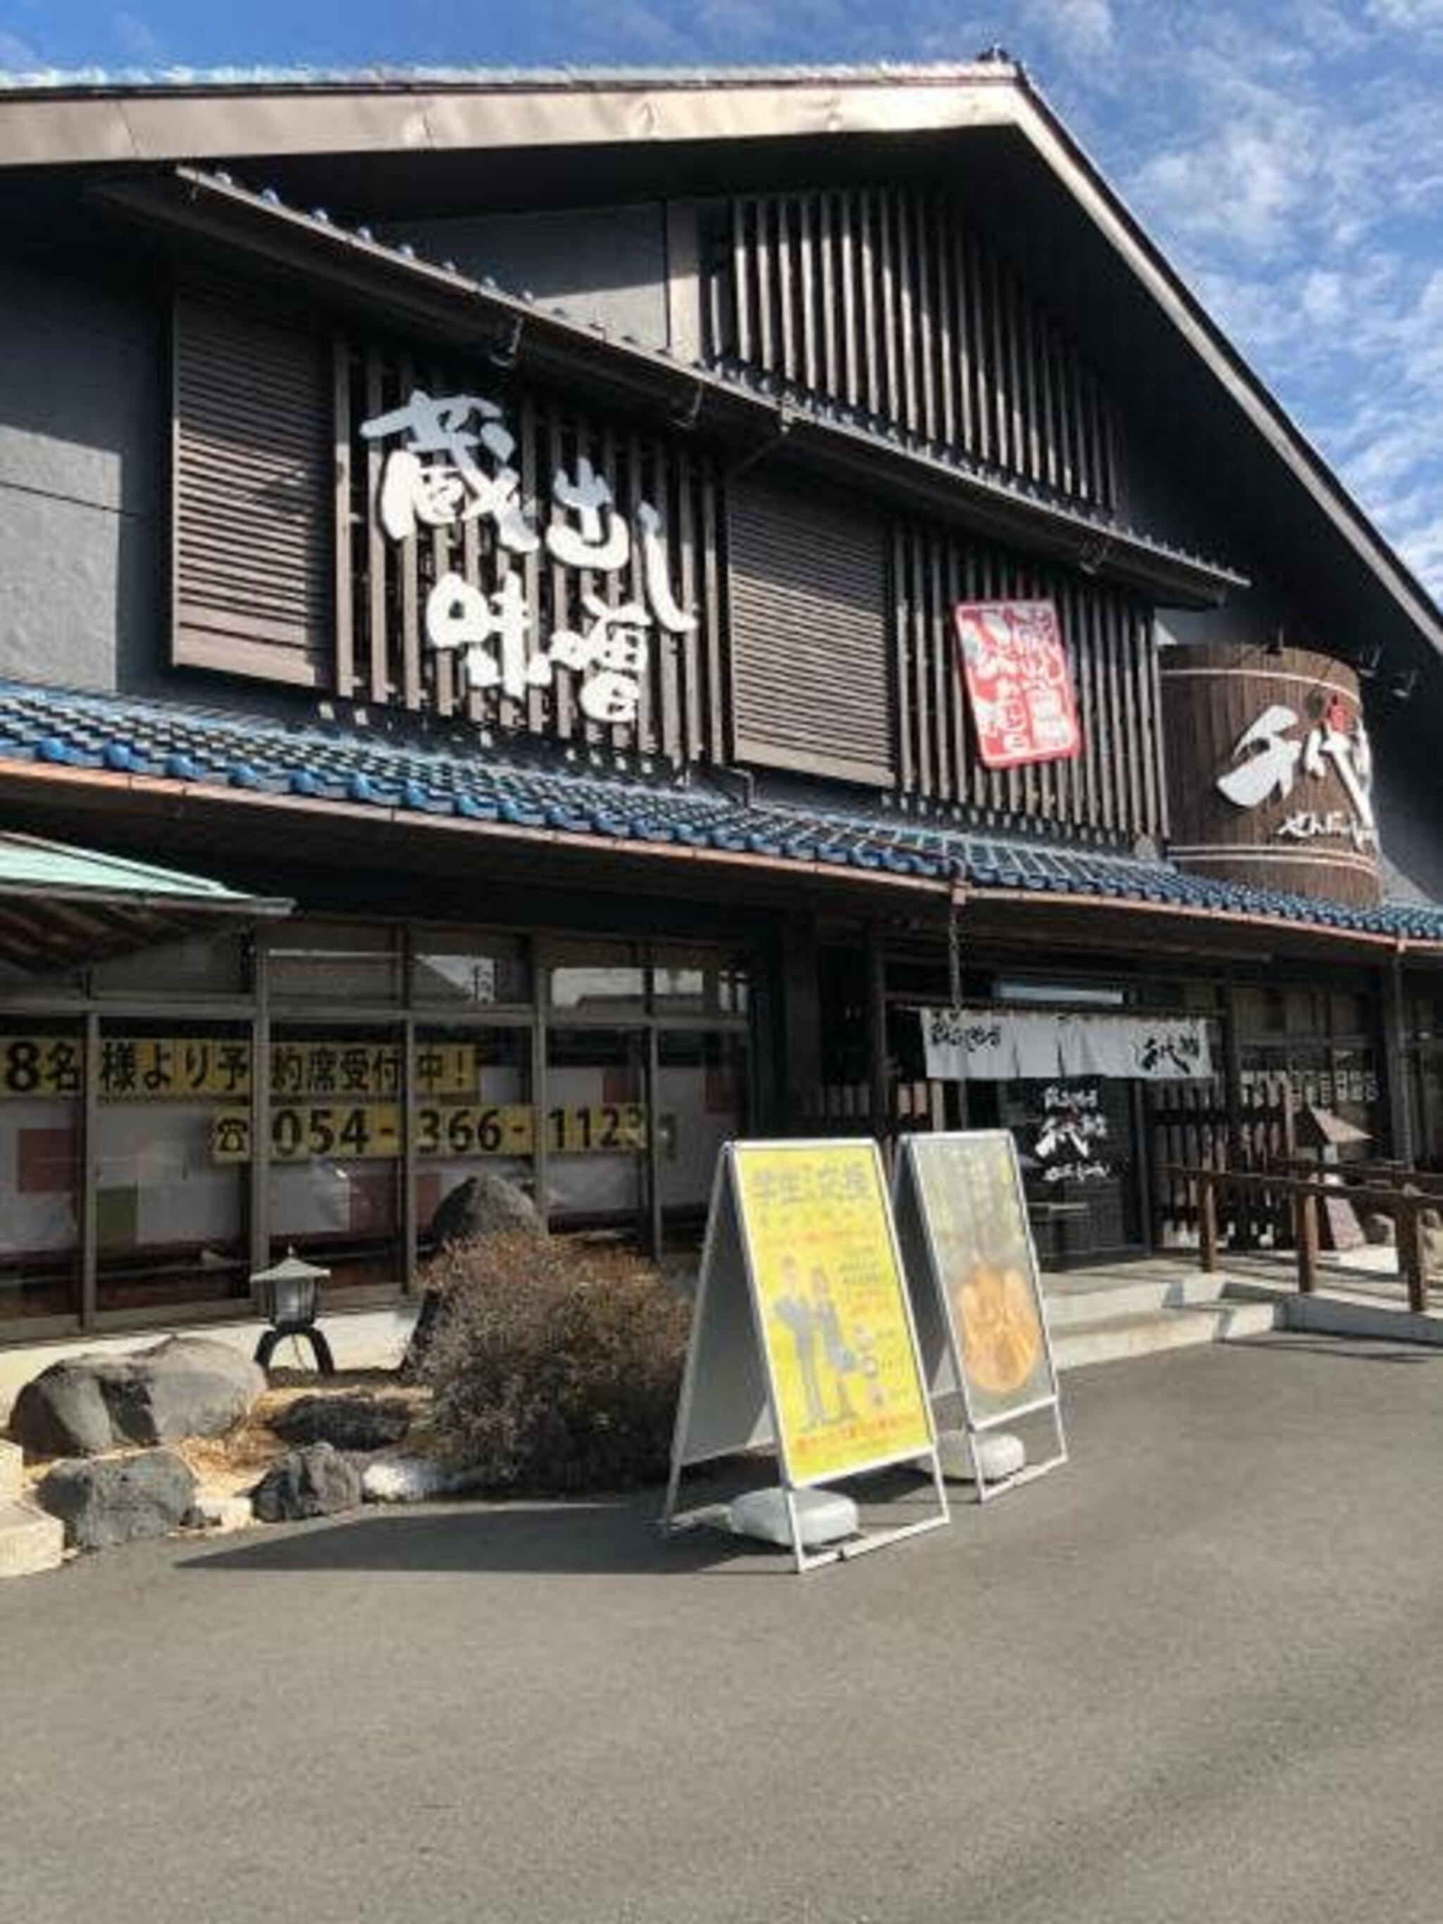
<path fill-rule="evenodd" d="M 1212 1049 L 1202 1016 L 1045 1016 L 924 1008 L 922 1047 L 937 1081 L 1037 1081 L 1110 1076 L 1204 1081 Z"/>

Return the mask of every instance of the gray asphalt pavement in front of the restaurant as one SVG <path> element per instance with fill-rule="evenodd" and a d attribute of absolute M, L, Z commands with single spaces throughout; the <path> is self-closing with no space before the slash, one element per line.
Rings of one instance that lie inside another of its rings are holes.
<path fill-rule="evenodd" d="M 1064 1387 L 1064 1470 L 804 1578 L 648 1493 L 0 1585 L 0 1918 L 1437 1924 L 1443 1353 Z"/>

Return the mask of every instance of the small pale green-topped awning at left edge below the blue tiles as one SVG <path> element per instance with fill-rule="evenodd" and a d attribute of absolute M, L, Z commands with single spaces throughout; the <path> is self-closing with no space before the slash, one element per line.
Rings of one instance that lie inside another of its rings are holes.
<path fill-rule="evenodd" d="M 289 912 L 206 875 L 0 833 L 0 966 L 27 975 Z"/>

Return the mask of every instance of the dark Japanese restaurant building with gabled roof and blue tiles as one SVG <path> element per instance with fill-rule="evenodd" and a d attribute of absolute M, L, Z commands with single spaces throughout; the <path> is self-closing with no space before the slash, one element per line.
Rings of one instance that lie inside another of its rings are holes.
<path fill-rule="evenodd" d="M 0 1341 L 1443 1158 L 1443 618 L 1022 67 L 15 85 L 0 252 Z"/>

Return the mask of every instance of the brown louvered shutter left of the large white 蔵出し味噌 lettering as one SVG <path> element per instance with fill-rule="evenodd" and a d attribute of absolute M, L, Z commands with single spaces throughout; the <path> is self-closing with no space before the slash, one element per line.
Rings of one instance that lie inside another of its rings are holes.
<path fill-rule="evenodd" d="M 333 381 L 304 325 L 175 302 L 173 660 L 331 679 Z"/>

